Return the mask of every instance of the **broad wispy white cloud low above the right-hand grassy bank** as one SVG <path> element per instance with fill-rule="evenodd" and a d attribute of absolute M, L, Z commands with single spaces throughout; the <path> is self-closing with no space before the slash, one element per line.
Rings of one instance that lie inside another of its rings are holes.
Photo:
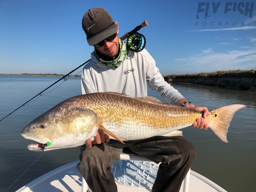
<path fill-rule="evenodd" d="M 250 70 L 256 67 L 256 49 L 215 52 L 209 48 L 188 58 L 177 58 L 190 73 L 212 72 L 218 70 Z"/>

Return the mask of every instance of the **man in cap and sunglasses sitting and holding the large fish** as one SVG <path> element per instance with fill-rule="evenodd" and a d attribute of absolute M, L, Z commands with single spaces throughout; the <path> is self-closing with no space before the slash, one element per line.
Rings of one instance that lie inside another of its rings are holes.
<path fill-rule="evenodd" d="M 208 128 L 204 122 L 204 118 L 209 115 L 208 109 L 187 102 L 164 81 L 154 59 L 145 49 L 141 52 L 126 49 L 125 43 L 118 38 L 118 23 L 105 9 L 89 9 L 83 17 L 82 27 L 88 44 L 94 46 L 91 60 L 81 74 L 82 94 L 112 91 L 143 97 L 147 96 L 148 84 L 169 103 L 203 112 L 203 117 L 196 119 L 193 126 Z M 81 146 L 81 163 L 77 166 L 93 192 L 117 191 L 110 170 L 111 162 L 119 160 L 123 150 L 155 163 L 162 162 L 152 192 L 178 192 L 195 156 L 193 145 L 180 136 L 125 141 L 123 145 L 99 130 L 93 141 L 88 139 Z"/>

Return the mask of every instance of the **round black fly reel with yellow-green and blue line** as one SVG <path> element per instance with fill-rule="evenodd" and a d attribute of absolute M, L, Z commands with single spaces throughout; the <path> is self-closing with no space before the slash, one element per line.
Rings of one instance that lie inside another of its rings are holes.
<path fill-rule="evenodd" d="M 134 33 L 127 38 L 126 46 L 129 50 L 140 52 L 145 48 L 146 38 L 140 33 Z"/>

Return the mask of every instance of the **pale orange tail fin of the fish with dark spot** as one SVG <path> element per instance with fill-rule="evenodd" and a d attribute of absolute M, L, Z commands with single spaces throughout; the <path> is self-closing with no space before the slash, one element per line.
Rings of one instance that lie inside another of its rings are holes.
<path fill-rule="evenodd" d="M 209 111 L 213 115 L 212 119 L 208 122 L 209 127 L 225 143 L 228 143 L 227 131 L 234 114 L 236 111 L 244 107 L 246 106 L 236 104 Z"/>

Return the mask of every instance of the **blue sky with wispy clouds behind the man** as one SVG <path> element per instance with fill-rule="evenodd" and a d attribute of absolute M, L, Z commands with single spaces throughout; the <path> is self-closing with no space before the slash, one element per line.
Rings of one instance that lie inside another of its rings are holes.
<path fill-rule="evenodd" d="M 119 37 L 148 21 L 139 32 L 163 75 L 256 69 L 256 2 L 218 2 L 0 0 L 0 73 L 67 74 L 87 61 L 81 20 L 96 6 L 119 23 Z"/>

